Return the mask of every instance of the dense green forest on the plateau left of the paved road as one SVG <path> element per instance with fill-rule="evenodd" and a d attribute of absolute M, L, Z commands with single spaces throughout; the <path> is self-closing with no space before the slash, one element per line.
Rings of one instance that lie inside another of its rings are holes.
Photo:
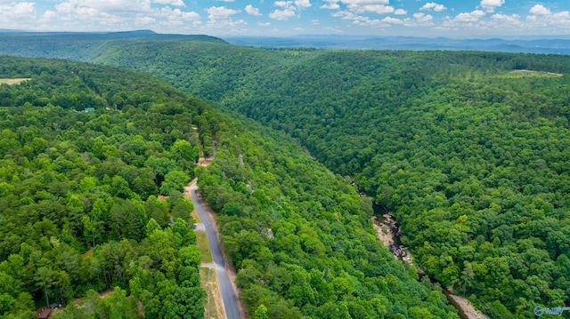
<path fill-rule="evenodd" d="M 0 65 L 3 77 L 31 78 L 0 84 L 0 317 L 33 318 L 53 303 L 69 306 L 57 318 L 142 317 L 134 298 L 147 318 L 203 317 L 201 254 L 181 193 L 202 103 L 116 68 Z M 106 110 L 115 95 L 122 112 Z M 83 296 L 90 306 L 75 307 Z"/>

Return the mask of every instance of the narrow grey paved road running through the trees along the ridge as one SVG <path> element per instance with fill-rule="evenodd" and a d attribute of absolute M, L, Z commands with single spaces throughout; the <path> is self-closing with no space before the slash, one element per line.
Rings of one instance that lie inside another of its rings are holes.
<path fill-rule="evenodd" d="M 194 182 L 190 186 L 190 197 L 196 211 L 198 211 L 199 218 L 202 219 L 202 224 L 204 224 L 204 228 L 206 229 L 206 235 L 208 235 L 208 245 L 210 246 L 212 260 L 216 267 L 217 283 L 222 293 L 222 300 L 224 300 L 225 315 L 228 319 L 240 319 L 238 297 L 235 291 L 233 291 L 232 282 L 230 282 L 230 277 L 225 270 L 224 255 L 222 255 L 222 249 L 217 239 L 216 229 L 212 226 L 212 220 L 196 194 L 196 190 L 198 190 L 198 186 L 196 182 Z"/>

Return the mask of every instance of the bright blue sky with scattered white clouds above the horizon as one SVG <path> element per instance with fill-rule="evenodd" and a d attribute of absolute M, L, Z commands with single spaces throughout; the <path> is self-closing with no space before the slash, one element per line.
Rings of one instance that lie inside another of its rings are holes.
<path fill-rule="evenodd" d="M 0 0 L 0 28 L 212 36 L 570 35 L 570 0 Z"/>

